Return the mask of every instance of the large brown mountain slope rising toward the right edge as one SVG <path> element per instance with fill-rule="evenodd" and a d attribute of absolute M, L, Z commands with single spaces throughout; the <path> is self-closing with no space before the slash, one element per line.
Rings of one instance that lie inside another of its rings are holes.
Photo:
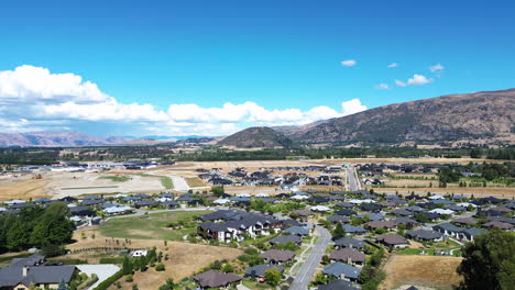
<path fill-rule="evenodd" d="M 515 89 L 390 104 L 288 135 L 305 143 L 502 141 L 515 143 Z"/>

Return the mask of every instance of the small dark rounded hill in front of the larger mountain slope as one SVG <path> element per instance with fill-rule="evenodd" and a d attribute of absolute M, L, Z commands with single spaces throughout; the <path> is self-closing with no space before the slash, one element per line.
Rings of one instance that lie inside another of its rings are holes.
<path fill-rule="evenodd" d="M 235 147 L 288 147 L 292 141 L 271 127 L 249 127 L 218 142 L 218 145 Z"/>

